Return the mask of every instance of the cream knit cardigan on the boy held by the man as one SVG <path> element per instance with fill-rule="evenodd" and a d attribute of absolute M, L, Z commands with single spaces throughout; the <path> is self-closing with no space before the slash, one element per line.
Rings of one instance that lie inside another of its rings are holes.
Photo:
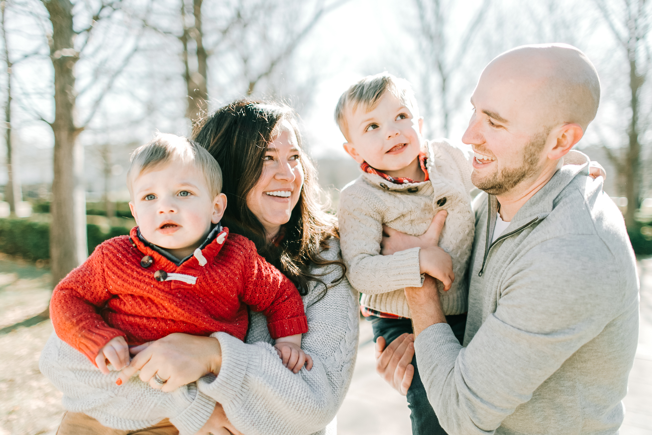
<path fill-rule="evenodd" d="M 349 282 L 363 293 L 360 303 L 365 307 L 410 317 L 403 288 L 422 284 L 419 248 L 380 255 L 382 225 L 421 235 L 437 211 L 446 210 L 439 246 L 451 254 L 455 280 L 448 292 L 440 288 L 441 304 L 445 314 L 467 310 L 466 270 L 475 230 L 471 165 L 465 153 L 445 139 L 428 142 L 426 153 L 430 181 L 396 185 L 363 173 L 340 195 L 342 258 Z"/>

